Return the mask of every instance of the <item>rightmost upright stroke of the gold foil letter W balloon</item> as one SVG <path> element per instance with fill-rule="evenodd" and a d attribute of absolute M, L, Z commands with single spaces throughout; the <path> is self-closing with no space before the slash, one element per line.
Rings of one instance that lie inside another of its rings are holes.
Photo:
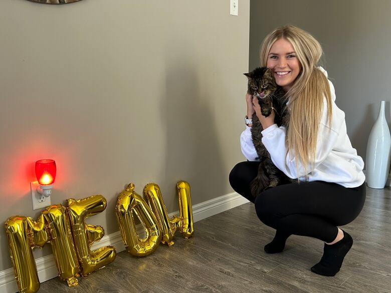
<path fill-rule="evenodd" d="M 186 181 L 178 181 L 176 190 L 178 193 L 179 219 L 174 217 L 173 221 L 177 226 L 177 231 L 180 231 L 182 236 L 187 239 L 194 234 L 190 185 Z"/>

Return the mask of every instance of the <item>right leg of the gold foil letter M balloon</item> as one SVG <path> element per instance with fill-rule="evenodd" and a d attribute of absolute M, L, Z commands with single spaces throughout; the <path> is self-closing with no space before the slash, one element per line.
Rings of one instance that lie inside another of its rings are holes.
<path fill-rule="evenodd" d="M 53 255 L 59 271 L 58 276 L 67 280 L 70 287 L 78 284 L 79 262 L 71 234 L 68 213 L 61 204 L 47 207 L 42 215 L 45 217 L 47 233 L 50 236 Z"/>

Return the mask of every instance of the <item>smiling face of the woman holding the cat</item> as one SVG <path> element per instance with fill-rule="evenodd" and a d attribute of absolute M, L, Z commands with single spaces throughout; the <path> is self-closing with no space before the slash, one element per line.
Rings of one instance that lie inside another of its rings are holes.
<path fill-rule="evenodd" d="M 276 83 L 287 92 L 295 82 L 301 71 L 301 64 L 297 59 L 292 44 L 279 39 L 274 42 L 268 55 L 268 68 L 272 69 Z"/>

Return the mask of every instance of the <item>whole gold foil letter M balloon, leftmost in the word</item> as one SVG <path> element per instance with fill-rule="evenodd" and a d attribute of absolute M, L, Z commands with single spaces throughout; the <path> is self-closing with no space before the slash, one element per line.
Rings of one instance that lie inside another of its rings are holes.
<path fill-rule="evenodd" d="M 59 277 L 69 286 L 78 284 L 79 262 L 66 208 L 61 204 L 47 207 L 38 220 L 15 216 L 6 222 L 11 259 L 20 292 L 36 292 L 40 287 L 32 248 L 52 244 Z"/>

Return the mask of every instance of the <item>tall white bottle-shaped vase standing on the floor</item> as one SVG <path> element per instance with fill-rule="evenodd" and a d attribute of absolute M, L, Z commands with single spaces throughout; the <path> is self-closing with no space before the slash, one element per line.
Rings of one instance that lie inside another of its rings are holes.
<path fill-rule="evenodd" d="M 366 146 L 366 184 L 371 188 L 384 188 L 391 158 L 391 136 L 384 115 L 385 101 L 380 102 L 379 115 L 369 133 Z"/>

